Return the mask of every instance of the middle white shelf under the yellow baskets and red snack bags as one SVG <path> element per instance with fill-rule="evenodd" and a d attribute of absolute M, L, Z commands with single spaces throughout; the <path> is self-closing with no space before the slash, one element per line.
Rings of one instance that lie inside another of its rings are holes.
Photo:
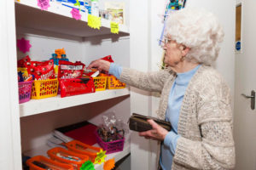
<path fill-rule="evenodd" d="M 113 99 L 120 96 L 129 95 L 128 88 L 104 90 L 93 94 L 81 94 L 61 98 L 56 96 L 47 99 L 31 99 L 30 101 L 20 104 L 20 117 L 32 116 L 47 111 L 56 111 L 76 105 L 84 105 L 105 99 Z"/>

